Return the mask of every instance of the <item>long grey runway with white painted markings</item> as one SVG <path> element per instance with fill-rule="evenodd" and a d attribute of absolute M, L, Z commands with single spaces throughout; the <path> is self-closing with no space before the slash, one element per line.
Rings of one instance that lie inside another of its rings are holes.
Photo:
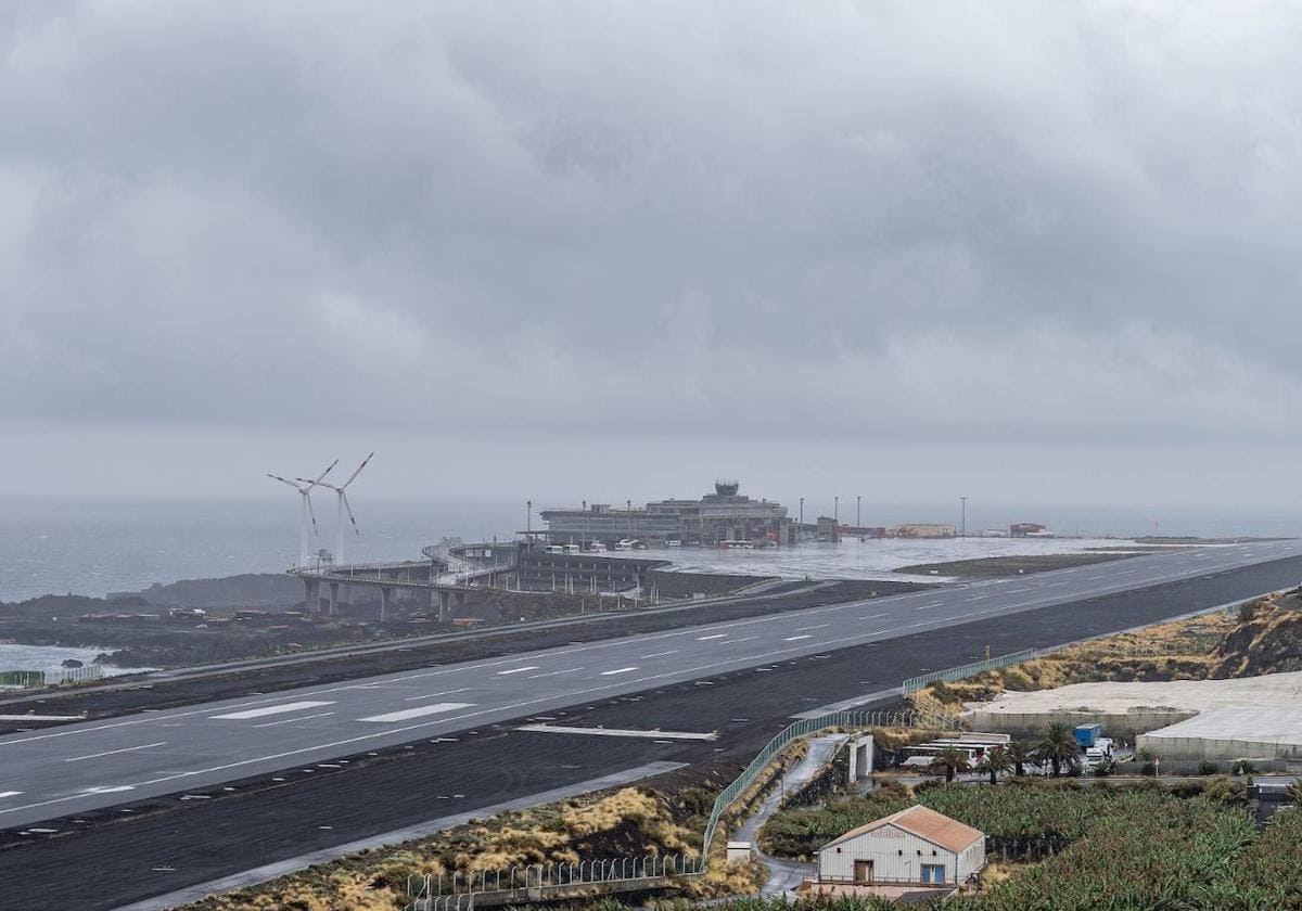
<path fill-rule="evenodd" d="M 1299 553 L 1302 541 L 1199 548 L 9 735 L 0 826 Z M 624 724 L 639 727 L 635 705 Z"/>

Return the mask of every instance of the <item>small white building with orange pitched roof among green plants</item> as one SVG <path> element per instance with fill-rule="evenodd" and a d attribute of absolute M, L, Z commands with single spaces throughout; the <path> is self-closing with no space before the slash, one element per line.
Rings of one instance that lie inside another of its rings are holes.
<path fill-rule="evenodd" d="M 986 836 L 935 809 L 913 806 L 828 842 L 819 885 L 958 886 L 986 865 Z"/>

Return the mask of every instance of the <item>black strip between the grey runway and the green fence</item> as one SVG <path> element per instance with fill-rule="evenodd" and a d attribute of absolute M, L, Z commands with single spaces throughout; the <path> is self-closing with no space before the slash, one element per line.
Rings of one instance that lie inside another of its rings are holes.
<path fill-rule="evenodd" d="M 187 795 L 198 799 L 159 796 L 53 820 L 42 826 L 53 832 L 10 836 L 8 847 L 0 850 L 0 881 L 4 884 L 0 897 L 4 907 L 53 907 L 69 899 L 90 908 L 116 907 L 277 858 L 297 856 L 316 847 L 650 761 L 682 761 L 700 768 L 730 759 L 740 765 L 792 714 L 897 686 L 904 677 L 923 669 L 962 664 L 979 657 L 987 644 L 995 653 L 1055 644 L 1290 587 L 1302 577 L 1302 560 L 1298 558 L 1247 569 L 1228 569 L 1224 561 L 1204 562 L 1210 564 L 1206 569 L 1211 573 L 1191 580 L 1177 579 L 1143 591 L 1104 591 L 1087 595 L 1085 600 L 1026 606 L 1018 612 L 1016 623 L 1009 623 L 1000 612 L 990 612 L 986 618 L 967 623 L 924 623 L 889 642 L 815 648 L 767 660 L 759 666 L 720 664 L 694 679 L 661 681 L 651 687 L 642 686 L 638 692 L 594 695 L 572 708 L 547 712 L 542 718 L 547 724 L 573 726 L 717 731 L 717 741 L 527 733 L 516 729 L 514 718 L 470 729 L 462 724 L 460 730 L 441 737 L 422 735 L 417 744 L 368 751 L 379 754 L 376 756 L 353 754 L 349 763 L 303 763 L 277 776 L 251 776 L 224 786 L 191 787 Z M 1173 567 L 1168 564 L 1163 571 L 1146 575 L 1172 574 Z M 1051 577 L 1057 575 L 1048 574 L 1046 580 L 1056 582 Z M 1030 582 L 1031 578 L 1017 579 L 1012 588 L 1022 588 Z M 1092 579 L 1088 587 L 1100 587 L 1100 582 Z M 1046 586 L 1048 590 L 1062 587 Z M 987 583 L 956 591 L 992 588 Z M 935 597 L 937 593 L 922 595 Z M 1021 596 L 1013 604 L 1023 604 L 1027 595 L 1036 592 L 1009 590 L 1005 593 Z M 883 600 L 871 604 L 875 613 Z M 932 610 L 928 604 L 931 601 L 906 606 L 926 614 Z M 719 642 L 698 639 L 715 635 L 702 627 L 687 632 L 693 634 L 691 642 Z M 730 635 L 743 638 L 742 630 Z M 745 635 L 751 632 L 747 630 Z M 779 636 L 779 640 L 785 639 Z M 521 662 L 509 666 L 521 666 Z M 542 673 L 549 673 L 543 668 L 539 665 Z M 484 670 L 492 669 L 480 669 L 480 674 Z M 527 674 L 506 675 L 510 677 Z M 277 699 L 283 704 L 286 694 L 279 694 Z M 210 712 L 215 713 L 219 712 Z M 536 711 L 517 712 L 516 718 L 536 721 L 538 714 Z M 276 720 L 275 716 L 262 717 Z M 243 721 L 260 724 L 256 718 Z M 73 763 L 77 764 L 81 763 Z M 118 800 L 124 796 L 137 795 L 118 794 Z M 122 812 L 125 809 L 132 812 Z M 53 882 L 62 888 L 52 891 Z"/>

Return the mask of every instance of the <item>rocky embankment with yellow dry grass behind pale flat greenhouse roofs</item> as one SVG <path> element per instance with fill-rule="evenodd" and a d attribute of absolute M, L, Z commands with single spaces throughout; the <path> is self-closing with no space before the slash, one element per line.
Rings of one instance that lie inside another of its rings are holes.
<path fill-rule="evenodd" d="M 1159 623 L 1064 648 L 958 683 L 932 683 L 921 698 L 954 708 L 1005 690 L 1026 692 L 1107 681 L 1199 681 L 1302 670 L 1302 597 L 1268 595 L 1237 613 Z"/>

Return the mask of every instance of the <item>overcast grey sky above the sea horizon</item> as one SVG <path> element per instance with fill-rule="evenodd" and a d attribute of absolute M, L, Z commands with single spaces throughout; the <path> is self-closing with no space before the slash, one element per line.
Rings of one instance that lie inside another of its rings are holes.
<path fill-rule="evenodd" d="M 1285 3 L 5 3 L 0 491 L 380 449 L 428 496 L 1299 504 L 1298 47 Z"/>

